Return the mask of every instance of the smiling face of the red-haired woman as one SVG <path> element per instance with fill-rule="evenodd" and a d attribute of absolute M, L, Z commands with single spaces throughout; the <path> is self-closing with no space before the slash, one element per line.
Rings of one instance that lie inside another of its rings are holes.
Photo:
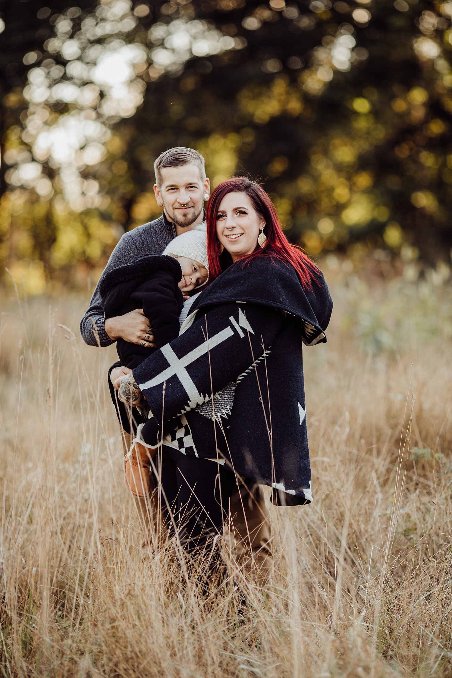
<path fill-rule="evenodd" d="M 254 252 L 265 221 L 255 211 L 246 193 L 228 193 L 220 203 L 216 217 L 217 237 L 224 249 L 237 261 Z"/>

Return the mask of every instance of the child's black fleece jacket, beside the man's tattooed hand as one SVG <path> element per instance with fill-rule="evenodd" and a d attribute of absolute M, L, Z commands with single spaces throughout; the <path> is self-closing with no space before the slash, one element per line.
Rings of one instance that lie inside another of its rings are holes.
<path fill-rule="evenodd" d="M 170 256 L 142 256 L 118 266 L 102 278 L 99 286 L 105 317 L 124 315 L 142 308 L 149 319 L 154 343 L 161 348 L 179 335 L 179 316 L 184 297 L 178 287 L 182 270 Z M 144 348 L 119 338 L 119 359 L 125 367 L 138 367 L 157 348 Z"/>

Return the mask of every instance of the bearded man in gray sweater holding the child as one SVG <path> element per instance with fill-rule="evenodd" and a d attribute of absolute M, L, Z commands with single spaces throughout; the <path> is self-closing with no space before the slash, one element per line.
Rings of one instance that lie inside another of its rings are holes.
<path fill-rule="evenodd" d="M 163 214 L 121 237 L 100 280 L 113 268 L 138 256 L 162 254 L 176 235 L 196 228 L 204 220 L 204 200 L 209 198 L 210 184 L 200 153 L 184 146 L 169 148 L 155 161 L 154 171 L 154 193 L 157 204 L 163 207 Z M 109 346 L 121 337 L 132 344 L 151 346 L 152 328 L 142 309 L 105 320 L 99 284 L 100 281 L 80 323 L 85 343 Z"/>

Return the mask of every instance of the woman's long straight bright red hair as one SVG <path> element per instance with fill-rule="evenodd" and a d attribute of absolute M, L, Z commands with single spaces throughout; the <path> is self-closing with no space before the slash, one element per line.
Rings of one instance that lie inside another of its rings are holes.
<path fill-rule="evenodd" d="M 209 258 L 209 279 L 215 280 L 222 273 L 220 263 L 219 242 L 216 231 L 217 214 L 222 199 L 228 193 L 246 193 L 253 207 L 265 220 L 264 233 L 267 241 L 264 247 L 257 247 L 254 252 L 243 257 L 243 264 L 247 264 L 257 256 L 269 256 L 279 259 L 283 264 L 291 264 L 300 277 L 303 287 L 311 288 L 312 280 L 319 268 L 310 260 L 307 254 L 289 243 L 279 223 L 278 214 L 274 205 L 264 191 L 264 188 L 256 182 L 244 176 L 236 176 L 219 184 L 212 192 L 207 203 L 207 256 Z"/>

